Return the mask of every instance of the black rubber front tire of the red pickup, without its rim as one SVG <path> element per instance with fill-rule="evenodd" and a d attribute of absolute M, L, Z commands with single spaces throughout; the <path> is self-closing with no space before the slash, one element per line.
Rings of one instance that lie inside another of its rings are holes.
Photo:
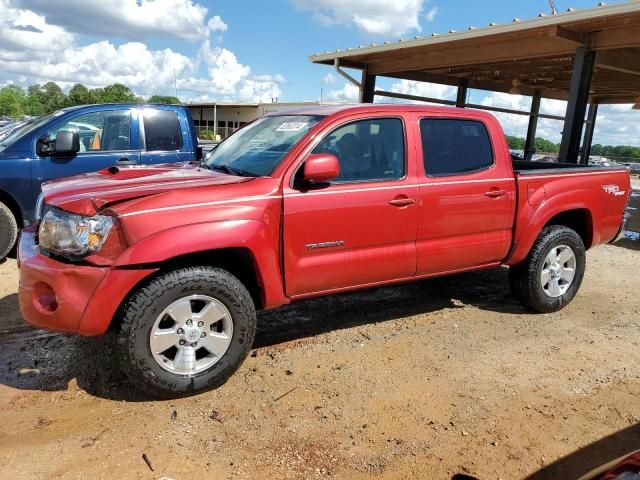
<path fill-rule="evenodd" d="M 165 308 L 190 295 L 207 295 L 231 314 L 233 334 L 228 350 L 208 369 L 177 374 L 154 359 L 149 338 Z M 184 267 L 161 274 L 132 293 L 120 312 L 116 351 L 120 368 L 145 396 L 175 398 L 201 393 L 224 384 L 249 354 L 256 331 L 256 311 L 244 285 L 226 270 Z"/>

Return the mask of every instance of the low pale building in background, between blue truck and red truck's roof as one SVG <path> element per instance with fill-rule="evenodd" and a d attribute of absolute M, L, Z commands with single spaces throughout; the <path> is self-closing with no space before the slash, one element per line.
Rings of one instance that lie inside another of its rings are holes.
<path fill-rule="evenodd" d="M 331 105 L 321 102 L 290 102 L 290 103 L 191 103 L 193 122 L 200 134 L 208 130 L 217 135 L 218 140 L 224 140 L 233 132 L 258 117 L 283 110 L 302 107 Z"/>

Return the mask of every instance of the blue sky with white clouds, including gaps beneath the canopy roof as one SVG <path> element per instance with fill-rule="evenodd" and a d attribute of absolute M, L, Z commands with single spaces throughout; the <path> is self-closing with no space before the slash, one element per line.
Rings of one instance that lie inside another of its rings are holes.
<path fill-rule="evenodd" d="M 559 11 L 593 0 L 555 0 Z M 62 6 L 64 5 L 64 6 Z M 120 82 L 139 95 L 186 101 L 348 101 L 355 89 L 309 55 L 400 37 L 507 23 L 549 13 L 547 0 L 0 0 L 0 85 L 56 81 L 91 87 Z M 382 80 L 404 93 L 451 97 L 452 88 Z M 527 109 L 528 98 L 473 92 L 474 103 Z M 564 103 L 543 110 L 563 115 Z M 501 116 L 523 136 L 526 118 Z M 638 144 L 629 106 L 604 108 L 596 141 Z M 558 140 L 561 124 L 543 121 Z"/>

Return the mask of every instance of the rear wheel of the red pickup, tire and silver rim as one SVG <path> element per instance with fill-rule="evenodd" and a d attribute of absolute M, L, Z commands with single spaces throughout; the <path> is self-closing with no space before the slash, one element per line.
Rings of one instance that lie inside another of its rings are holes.
<path fill-rule="evenodd" d="M 511 292 L 531 310 L 557 312 L 578 292 L 585 264 L 585 247 L 580 235 L 560 225 L 547 227 L 527 258 L 509 268 Z"/>

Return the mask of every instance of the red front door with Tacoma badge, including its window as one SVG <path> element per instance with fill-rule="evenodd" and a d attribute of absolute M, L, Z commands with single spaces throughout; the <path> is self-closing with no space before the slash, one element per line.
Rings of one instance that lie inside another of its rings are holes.
<path fill-rule="evenodd" d="M 334 154 L 340 176 L 323 188 L 284 189 L 288 295 L 414 275 L 418 187 L 406 145 L 401 118 L 350 120 L 322 135 L 311 153 Z"/>

